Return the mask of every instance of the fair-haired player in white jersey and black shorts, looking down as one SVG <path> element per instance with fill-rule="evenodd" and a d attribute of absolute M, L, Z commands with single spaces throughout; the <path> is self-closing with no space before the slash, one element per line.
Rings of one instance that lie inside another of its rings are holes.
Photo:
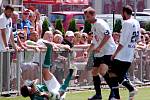
<path fill-rule="evenodd" d="M 111 55 L 116 50 L 116 44 L 113 40 L 109 25 L 102 19 L 95 18 L 95 10 L 88 7 L 84 10 L 87 21 L 92 24 L 93 40 L 88 52 L 94 52 L 94 66 L 92 69 L 93 83 L 96 94 L 88 100 L 101 100 L 100 77 L 102 75 L 109 84 L 107 71 L 111 64 Z"/>

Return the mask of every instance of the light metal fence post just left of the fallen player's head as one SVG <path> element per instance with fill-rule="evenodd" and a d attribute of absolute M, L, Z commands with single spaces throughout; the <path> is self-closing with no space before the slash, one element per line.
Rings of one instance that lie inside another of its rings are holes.
<path fill-rule="evenodd" d="M 16 71 L 16 76 L 17 76 L 17 91 L 18 91 L 18 95 L 20 95 L 20 52 L 17 52 L 17 61 L 16 61 L 16 66 L 17 66 L 17 71 Z"/>

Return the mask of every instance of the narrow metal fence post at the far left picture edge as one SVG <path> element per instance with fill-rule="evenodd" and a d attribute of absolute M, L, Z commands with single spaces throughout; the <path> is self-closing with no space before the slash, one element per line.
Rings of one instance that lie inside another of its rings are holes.
<path fill-rule="evenodd" d="M 3 52 L 0 52 L 0 95 L 3 87 Z"/>

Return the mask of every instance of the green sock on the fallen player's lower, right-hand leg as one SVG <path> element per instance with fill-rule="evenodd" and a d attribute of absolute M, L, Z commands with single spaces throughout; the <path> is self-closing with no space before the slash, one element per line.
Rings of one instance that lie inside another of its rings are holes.
<path fill-rule="evenodd" d="M 69 74 L 67 75 L 64 83 L 60 87 L 60 91 L 66 91 L 67 87 L 69 86 L 69 82 L 72 78 L 73 69 L 69 69 Z"/>

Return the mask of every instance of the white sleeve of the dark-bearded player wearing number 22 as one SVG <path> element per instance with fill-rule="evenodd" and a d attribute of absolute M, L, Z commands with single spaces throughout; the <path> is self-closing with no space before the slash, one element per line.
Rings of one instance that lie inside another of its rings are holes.
<path fill-rule="evenodd" d="M 128 27 L 128 23 L 124 23 L 122 25 L 122 32 L 120 33 L 120 44 L 121 45 L 126 45 L 127 41 L 128 41 L 128 30 L 130 30 L 130 28 Z"/>

